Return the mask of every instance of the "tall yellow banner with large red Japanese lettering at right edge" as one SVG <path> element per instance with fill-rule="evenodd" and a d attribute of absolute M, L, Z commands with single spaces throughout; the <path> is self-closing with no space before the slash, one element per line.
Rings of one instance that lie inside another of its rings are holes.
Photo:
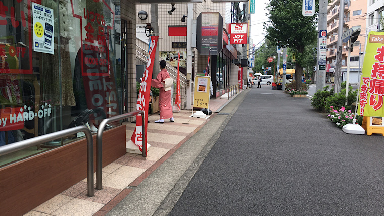
<path fill-rule="evenodd" d="M 384 116 L 384 32 L 369 32 L 360 80 L 359 114 Z"/>

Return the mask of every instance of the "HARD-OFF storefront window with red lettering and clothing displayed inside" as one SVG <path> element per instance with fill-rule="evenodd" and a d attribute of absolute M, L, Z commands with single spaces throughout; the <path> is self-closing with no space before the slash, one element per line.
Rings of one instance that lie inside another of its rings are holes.
<path fill-rule="evenodd" d="M 0 146 L 79 124 L 95 132 L 121 113 L 117 8 L 108 0 L 0 2 Z M 83 136 L 5 155 L 0 166 Z"/>

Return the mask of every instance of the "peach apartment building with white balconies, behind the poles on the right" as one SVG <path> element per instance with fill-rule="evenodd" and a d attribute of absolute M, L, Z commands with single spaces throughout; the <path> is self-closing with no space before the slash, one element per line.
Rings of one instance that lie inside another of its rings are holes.
<path fill-rule="evenodd" d="M 368 0 L 374 1 L 374 0 Z M 340 0 L 334 0 L 328 5 L 328 18 L 327 18 L 327 70 L 326 82 L 334 83 L 334 68 L 336 65 L 336 52 L 339 30 L 339 10 Z M 344 7 L 344 25 L 343 32 L 352 28 L 352 30 L 361 29 L 361 34 L 354 42 L 354 48 L 351 52 L 350 60 L 350 78 L 351 84 L 358 83 L 359 71 L 363 65 L 363 57 L 359 56 L 359 51 L 364 51 L 365 45 L 365 31 L 366 31 L 366 17 L 367 17 L 367 0 L 349 0 L 345 3 Z M 347 74 L 347 58 L 348 58 L 348 43 L 343 43 L 342 52 L 342 81 L 346 81 Z M 360 65 L 360 68 L 359 68 Z"/>

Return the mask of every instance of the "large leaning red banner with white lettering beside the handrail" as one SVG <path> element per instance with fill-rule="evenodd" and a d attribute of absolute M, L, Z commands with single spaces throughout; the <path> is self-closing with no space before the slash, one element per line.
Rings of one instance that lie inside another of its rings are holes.
<path fill-rule="evenodd" d="M 148 105 L 150 101 L 150 91 L 151 91 L 151 82 L 152 82 L 152 72 L 153 72 L 153 64 L 156 55 L 156 47 L 159 36 L 151 36 L 151 45 L 149 50 L 149 58 L 147 60 L 147 67 L 142 76 L 142 82 L 140 86 L 140 90 L 138 92 L 137 97 L 137 110 L 143 110 L 145 115 L 145 122 L 142 122 L 141 114 L 136 116 L 136 128 L 132 134 L 131 141 L 138 146 L 140 151 L 142 152 L 143 142 L 147 143 L 147 136 L 145 136 L 145 140 L 142 140 L 143 134 L 147 134 L 147 122 L 148 122 Z M 159 63 L 156 63 L 159 64 Z M 142 131 L 142 124 L 145 124 L 145 130 Z M 146 152 L 147 154 L 147 152 Z"/>

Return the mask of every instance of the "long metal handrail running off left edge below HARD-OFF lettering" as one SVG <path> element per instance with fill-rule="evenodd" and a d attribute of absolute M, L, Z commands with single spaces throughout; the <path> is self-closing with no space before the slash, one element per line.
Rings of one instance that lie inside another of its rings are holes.
<path fill-rule="evenodd" d="M 22 150 L 25 148 L 29 148 L 38 144 L 42 144 L 51 140 L 55 140 L 58 138 L 62 138 L 71 134 L 75 134 L 78 132 L 84 132 L 85 137 L 87 139 L 87 181 L 88 181 L 88 196 L 92 197 L 94 195 L 94 188 L 93 188 L 93 138 L 92 133 L 90 132 L 89 128 L 85 125 L 77 126 L 73 128 L 68 128 L 65 130 L 44 134 L 41 136 L 29 138 L 26 140 L 22 140 L 19 142 L 15 142 L 12 144 L 0 146 L 0 156 Z"/>

